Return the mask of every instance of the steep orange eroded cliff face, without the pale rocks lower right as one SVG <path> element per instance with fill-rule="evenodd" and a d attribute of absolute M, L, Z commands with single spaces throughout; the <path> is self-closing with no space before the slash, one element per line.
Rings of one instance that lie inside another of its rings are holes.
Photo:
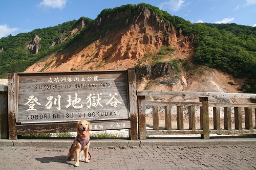
<path fill-rule="evenodd" d="M 134 17 L 131 17 L 134 16 Z M 113 22 L 124 20 L 122 29 L 102 30 Z M 133 68 L 148 54 L 156 54 L 163 45 L 175 47 L 174 58 L 187 58 L 194 53 L 190 38 L 165 23 L 145 7 L 138 11 L 126 10 L 114 16 L 98 18 L 84 38 L 101 30 L 99 39 L 79 50 L 54 54 L 47 61 L 38 62 L 27 72 L 70 71 Z M 81 44 L 82 46 L 82 44 Z M 44 70 L 42 70 L 44 68 Z"/>

